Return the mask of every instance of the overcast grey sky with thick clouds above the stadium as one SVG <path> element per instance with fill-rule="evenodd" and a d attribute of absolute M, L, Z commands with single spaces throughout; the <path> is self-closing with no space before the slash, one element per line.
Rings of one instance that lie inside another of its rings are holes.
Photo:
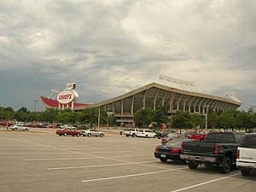
<path fill-rule="evenodd" d="M 256 105 L 255 0 L 0 0 L 0 106 L 44 111 L 77 83 L 101 102 L 157 82 Z"/>

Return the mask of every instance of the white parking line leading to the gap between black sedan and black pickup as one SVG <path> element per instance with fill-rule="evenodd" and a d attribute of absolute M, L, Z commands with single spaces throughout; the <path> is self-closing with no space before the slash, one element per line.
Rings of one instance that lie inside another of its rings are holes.
<path fill-rule="evenodd" d="M 83 183 L 89 183 L 89 182 L 96 182 L 96 181 L 103 181 L 103 180 L 110 180 L 110 179 L 116 179 L 116 178 L 125 178 L 125 177 L 138 177 L 138 176 L 144 176 L 144 175 L 152 175 L 152 174 L 158 174 L 162 172 L 173 172 L 180 169 L 186 169 L 187 167 L 177 168 L 177 169 L 168 169 L 158 172 L 143 172 L 143 173 L 137 173 L 137 174 L 131 174 L 131 175 L 123 175 L 123 176 L 117 176 L 117 177 L 103 177 L 103 178 L 95 178 L 95 179 L 88 179 L 82 181 Z"/>

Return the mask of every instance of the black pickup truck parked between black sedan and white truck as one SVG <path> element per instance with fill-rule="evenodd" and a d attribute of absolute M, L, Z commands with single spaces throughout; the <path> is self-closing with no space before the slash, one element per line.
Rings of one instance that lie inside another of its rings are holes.
<path fill-rule="evenodd" d="M 190 169 L 198 165 L 218 166 L 220 172 L 230 172 L 232 164 L 236 164 L 237 147 L 241 144 L 242 135 L 239 132 L 209 132 L 205 142 L 183 142 L 180 157 L 185 160 Z"/>

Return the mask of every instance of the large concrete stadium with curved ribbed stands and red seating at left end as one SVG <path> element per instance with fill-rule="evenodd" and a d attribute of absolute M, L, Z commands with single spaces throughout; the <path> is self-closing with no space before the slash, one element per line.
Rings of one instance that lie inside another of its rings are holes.
<path fill-rule="evenodd" d="M 193 88 L 195 85 L 192 82 L 170 79 L 166 76 L 161 76 L 161 78 L 169 82 L 178 82 L 178 84 L 186 85 L 189 88 Z M 55 94 L 60 94 L 60 91 L 55 92 Z M 168 109 L 171 117 L 177 110 L 206 114 L 209 110 L 227 111 L 241 106 L 241 101 L 235 96 L 230 96 L 230 98 L 211 96 L 195 90 L 178 89 L 177 87 L 153 82 L 121 96 L 93 104 L 78 102 L 61 104 L 60 101 L 54 98 L 50 99 L 44 96 L 41 96 L 41 101 L 45 108 L 71 108 L 73 111 L 81 111 L 84 108 L 99 108 L 100 111 L 113 113 L 119 125 L 131 125 L 134 124 L 134 113 L 141 108 L 153 108 L 155 110 L 162 106 Z"/>

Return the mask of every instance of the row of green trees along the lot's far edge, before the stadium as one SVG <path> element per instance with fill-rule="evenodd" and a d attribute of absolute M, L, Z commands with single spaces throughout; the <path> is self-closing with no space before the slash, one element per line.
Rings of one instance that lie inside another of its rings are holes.
<path fill-rule="evenodd" d="M 46 109 L 44 112 L 30 112 L 22 107 L 15 111 L 13 108 L 0 107 L 0 119 L 17 120 L 23 122 L 41 121 L 49 124 L 73 124 L 73 125 L 97 125 L 98 108 L 84 108 L 82 111 L 73 113 L 71 109 L 59 110 L 55 108 Z M 206 117 L 207 115 L 207 117 Z M 160 128 L 162 124 L 169 125 L 173 129 L 231 129 L 253 131 L 256 127 L 256 113 L 252 108 L 247 112 L 238 110 L 229 110 L 226 112 L 209 111 L 207 114 L 189 113 L 181 110 L 172 115 L 164 107 L 141 108 L 134 113 L 134 121 L 137 127 L 148 127 L 150 125 Z M 171 124 L 170 124 L 171 122 Z M 116 119 L 113 114 L 106 111 L 100 113 L 100 125 L 116 125 Z"/>

